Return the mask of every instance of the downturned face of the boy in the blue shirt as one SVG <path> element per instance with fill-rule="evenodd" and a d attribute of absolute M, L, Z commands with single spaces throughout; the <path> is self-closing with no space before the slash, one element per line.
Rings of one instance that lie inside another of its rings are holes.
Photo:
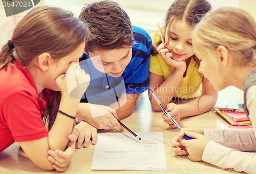
<path fill-rule="evenodd" d="M 89 52 L 88 55 L 97 70 L 112 77 L 120 77 L 132 59 L 132 48 L 94 50 Z"/>

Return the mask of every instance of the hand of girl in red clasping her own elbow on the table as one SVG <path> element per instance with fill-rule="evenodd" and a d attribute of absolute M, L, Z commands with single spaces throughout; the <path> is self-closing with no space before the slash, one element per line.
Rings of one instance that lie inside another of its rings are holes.
<path fill-rule="evenodd" d="M 48 154 L 49 154 L 48 160 L 53 163 L 52 165 L 53 168 L 61 172 L 66 170 L 67 165 L 69 164 L 73 155 L 75 154 L 76 136 L 73 134 L 70 134 L 68 138 L 69 138 L 69 143 L 65 151 L 60 151 L 60 150 L 48 151 Z"/>

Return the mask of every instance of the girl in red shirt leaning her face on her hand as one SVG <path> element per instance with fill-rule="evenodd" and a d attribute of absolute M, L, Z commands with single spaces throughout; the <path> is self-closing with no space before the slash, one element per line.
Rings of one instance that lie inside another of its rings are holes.
<path fill-rule="evenodd" d="M 0 52 L 0 152 L 16 141 L 38 167 L 66 169 L 74 145 L 62 163 L 55 152 L 75 141 L 70 134 L 80 102 L 69 95 L 66 76 L 90 81 L 75 65 L 88 36 L 78 18 L 59 8 L 34 8 L 17 24 Z"/>

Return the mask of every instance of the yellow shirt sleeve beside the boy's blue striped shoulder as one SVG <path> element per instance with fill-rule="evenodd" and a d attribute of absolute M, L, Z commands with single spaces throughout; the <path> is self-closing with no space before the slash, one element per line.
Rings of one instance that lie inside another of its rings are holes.
<path fill-rule="evenodd" d="M 155 45 L 161 39 L 160 34 L 157 31 L 151 33 L 150 36 L 152 38 L 152 45 Z M 157 55 L 157 56 L 150 55 L 150 62 L 148 63 L 148 67 L 150 72 L 153 72 L 159 76 L 163 76 L 163 71 L 158 60 L 159 56 L 160 55 Z M 160 58 L 162 59 L 161 56 Z"/>

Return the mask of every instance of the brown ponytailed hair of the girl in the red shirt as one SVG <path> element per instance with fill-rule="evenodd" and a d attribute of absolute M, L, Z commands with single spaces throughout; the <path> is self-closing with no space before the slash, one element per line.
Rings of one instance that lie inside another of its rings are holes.
<path fill-rule="evenodd" d="M 36 7 L 17 24 L 11 38 L 14 52 L 4 45 L 0 52 L 0 69 L 6 68 L 16 59 L 25 67 L 42 53 L 49 53 L 53 59 L 60 59 L 71 54 L 88 38 L 88 30 L 83 22 L 72 12 L 54 7 Z M 7 41 L 6 41 L 7 42 Z M 14 57 L 15 56 L 15 57 Z M 44 108 L 44 121 L 51 129 L 58 110 L 61 93 L 51 91 L 52 96 Z M 53 121 L 52 121 L 53 120 Z"/>

